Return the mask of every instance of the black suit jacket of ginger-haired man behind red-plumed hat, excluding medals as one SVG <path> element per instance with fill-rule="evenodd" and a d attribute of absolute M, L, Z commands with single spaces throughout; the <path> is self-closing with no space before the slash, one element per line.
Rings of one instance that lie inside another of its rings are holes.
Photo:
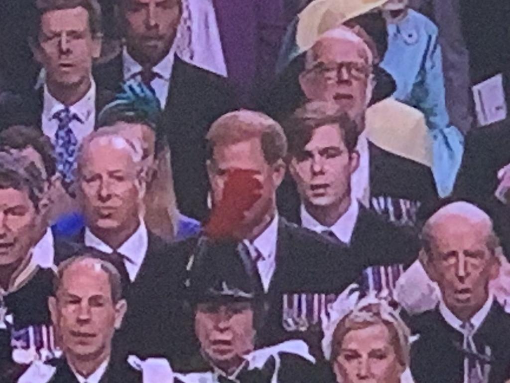
<path fill-rule="evenodd" d="M 197 237 L 174 245 L 173 252 L 191 256 Z M 181 256 L 181 255 L 180 255 Z M 265 318 L 257 333 L 257 348 L 272 346 L 290 339 L 302 339 L 309 344 L 314 356 L 321 357 L 319 326 L 310 331 L 288 331 L 283 325 L 283 300 L 286 295 L 304 294 L 337 296 L 351 284 L 358 274 L 348 261 L 349 250 L 331 243 L 321 235 L 280 219 L 276 244 L 276 269 L 269 290 L 264 295 Z M 262 287 L 261 287 L 262 289 Z M 310 303 L 310 306 L 312 304 Z M 189 321 L 193 321 L 190 313 Z M 195 343 L 194 331 L 188 326 L 190 343 Z M 191 371 L 189 364 L 176 368 Z"/>

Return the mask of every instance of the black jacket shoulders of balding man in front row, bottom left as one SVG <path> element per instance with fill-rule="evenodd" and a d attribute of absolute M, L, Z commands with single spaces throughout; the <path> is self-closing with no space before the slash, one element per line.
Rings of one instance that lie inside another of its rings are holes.
<path fill-rule="evenodd" d="M 57 370 L 48 383 L 78 383 L 66 360 L 56 363 Z M 139 383 L 141 374 L 132 369 L 126 361 L 111 361 L 99 383 Z"/>

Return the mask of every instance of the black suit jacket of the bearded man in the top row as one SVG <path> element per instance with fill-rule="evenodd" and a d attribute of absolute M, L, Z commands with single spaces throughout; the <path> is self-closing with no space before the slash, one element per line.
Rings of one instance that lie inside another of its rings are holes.
<path fill-rule="evenodd" d="M 117 91 L 123 82 L 122 55 L 98 65 L 94 78 L 101 87 Z M 175 195 L 186 216 L 199 220 L 206 216 L 205 136 L 218 117 L 236 108 L 225 79 L 175 56 L 160 129 L 170 145 Z"/>

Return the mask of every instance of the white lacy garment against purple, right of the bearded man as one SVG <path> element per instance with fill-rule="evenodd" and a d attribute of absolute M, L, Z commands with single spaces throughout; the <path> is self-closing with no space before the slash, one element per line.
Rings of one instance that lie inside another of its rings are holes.
<path fill-rule="evenodd" d="M 226 77 L 223 46 L 212 0 L 183 0 L 176 37 L 177 55 L 184 61 Z"/>

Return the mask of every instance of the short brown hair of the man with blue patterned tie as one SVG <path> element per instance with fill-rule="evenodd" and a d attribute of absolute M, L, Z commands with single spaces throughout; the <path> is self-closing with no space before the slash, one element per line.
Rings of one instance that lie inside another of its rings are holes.
<path fill-rule="evenodd" d="M 103 31 L 103 17 L 101 7 L 97 0 L 36 0 L 32 9 L 31 23 L 29 26 L 29 39 L 32 44 L 39 45 L 39 32 L 41 29 L 42 16 L 50 11 L 60 9 L 84 8 L 89 15 L 89 27 L 93 37 L 100 37 Z"/>

